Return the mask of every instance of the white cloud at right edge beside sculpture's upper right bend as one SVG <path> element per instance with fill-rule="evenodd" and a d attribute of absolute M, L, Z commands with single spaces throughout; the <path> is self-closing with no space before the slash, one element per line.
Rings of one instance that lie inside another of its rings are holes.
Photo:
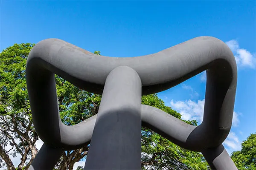
<path fill-rule="evenodd" d="M 246 49 L 240 48 L 237 40 L 227 41 L 226 44 L 229 46 L 231 51 L 234 53 L 236 63 L 241 67 L 255 68 L 256 58 Z"/>

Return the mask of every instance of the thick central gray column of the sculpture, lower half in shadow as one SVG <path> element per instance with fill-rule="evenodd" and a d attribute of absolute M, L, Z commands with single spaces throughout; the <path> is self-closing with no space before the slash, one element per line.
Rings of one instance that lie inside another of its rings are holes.
<path fill-rule="evenodd" d="M 108 75 L 84 169 L 141 169 L 141 80 L 120 66 Z"/>

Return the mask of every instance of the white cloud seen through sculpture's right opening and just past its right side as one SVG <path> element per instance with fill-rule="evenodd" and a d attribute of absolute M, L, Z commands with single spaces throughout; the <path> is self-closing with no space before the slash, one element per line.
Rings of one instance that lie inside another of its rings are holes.
<path fill-rule="evenodd" d="M 170 104 L 172 109 L 176 110 L 182 115 L 182 119 L 197 120 L 198 124 L 201 124 L 203 122 L 204 99 L 198 100 L 197 102 L 192 101 L 190 99 L 186 101 L 171 100 Z M 235 127 L 239 124 L 239 115 L 241 115 L 241 113 L 233 113 L 232 125 Z"/>

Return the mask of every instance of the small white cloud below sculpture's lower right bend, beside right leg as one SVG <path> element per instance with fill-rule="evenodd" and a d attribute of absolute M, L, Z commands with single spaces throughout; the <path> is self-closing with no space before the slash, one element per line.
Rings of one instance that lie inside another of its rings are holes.
<path fill-rule="evenodd" d="M 227 139 L 223 142 L 227 153 L 231 154 L 233 151 L 241 150 L 241 142 L 239 141 L 239 138 L 236 136 L 236 133 L 233 131 L 230 131 L 230 133 L 227 136 Z"/>

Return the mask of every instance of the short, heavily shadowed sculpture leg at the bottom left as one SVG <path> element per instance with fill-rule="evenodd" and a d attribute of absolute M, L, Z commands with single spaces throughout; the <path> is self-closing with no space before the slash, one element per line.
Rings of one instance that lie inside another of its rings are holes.
<path fill-rule="evenodd" d="M 63 152 L 61 148 L 43 144 L 28 170 L 52 170 Z"/>

